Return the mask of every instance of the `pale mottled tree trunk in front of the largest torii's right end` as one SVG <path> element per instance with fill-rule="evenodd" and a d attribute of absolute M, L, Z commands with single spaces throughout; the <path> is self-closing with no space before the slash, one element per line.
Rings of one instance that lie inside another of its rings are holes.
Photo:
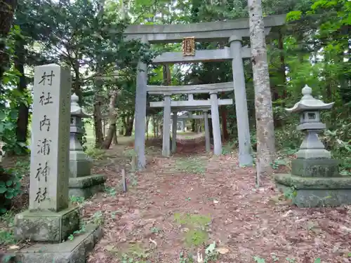
<path fill-rule="evenodd" d="M 253 86 L 255 87 L 257 134 L 257 184 L 261 175 L 272 173 L 274 159 L 274 121 L 272 95 L 265 44 L 265 25 L 261 0 L 248 0 Z"/>

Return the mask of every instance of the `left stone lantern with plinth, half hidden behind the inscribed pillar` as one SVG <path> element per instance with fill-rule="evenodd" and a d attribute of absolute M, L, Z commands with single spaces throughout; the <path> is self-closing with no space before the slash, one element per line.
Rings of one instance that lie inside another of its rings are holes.
<path fill-rule="evenodd" d="M 79 137 L 83 134 L 83 118 L 90 118 L 79 104 L 79 97 L 73 94 L 71 97 L 71 125 L 69 137 L 69 196 L 88 198 L 98 191 L 103 191 L 105 177 L 103 175 L 91 175 L 93 162 L 83 151 Z"/>

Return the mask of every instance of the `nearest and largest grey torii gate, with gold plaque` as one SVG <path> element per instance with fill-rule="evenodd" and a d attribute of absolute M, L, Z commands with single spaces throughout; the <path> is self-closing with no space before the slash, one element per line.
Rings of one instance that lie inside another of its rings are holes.
<path fill-rule="evenodd" d="M 286 15 L 273 15 L 263 18 L 265 34 L 267 35 L 272 27 L 284 25 L 285 19 Z M 247 112 L 244 67 L 242 61 L 243 58 L 251 58 L 251 51 L 250 48 L 243 47 L 241 44 L 243 38 L 249 37 L 249 19 L 202 22 L 189 25 L 131 25 L 126 28 L 124 35 L 127 40 L 140 39 L 140 41 L 150 44 L 177 43 L 183 41 L 183 53 L 163 53 L 152 61 L 154 64 L 232 60 L 232 90 L 234 90 L 235 108 L 237 112 L 239 165 L 251 166 L 252 156 L 249 116 Z M 195 40 L 198 42 L 227 41 L 230 47 L 218 50 L 195 50 Z M 135 151 L 138 159 L 138 168 L 143 168 L 146 164 L 145 116 L 148 91 L 147 65 L 140 60 L 138 62 L 138 69 L 135 94 Z M 217 94 L 213 93 L 211 98 L 213 101 L 217 101 Z M 169 95 L 166 95 L 164 103 L 171 104 L 170 100 Z M 170 114 L 169 112 L 169 115 Z M 170 121 L 169 117 L 164 120 Z"/>

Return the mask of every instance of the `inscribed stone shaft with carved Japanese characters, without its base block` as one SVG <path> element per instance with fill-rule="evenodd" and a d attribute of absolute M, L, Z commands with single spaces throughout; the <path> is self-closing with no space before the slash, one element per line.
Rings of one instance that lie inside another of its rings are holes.
<path fill-rule="evenodd" d="M 69 78 L 59 65 L 34 67 L 29 210 L 68 207 Z"/>

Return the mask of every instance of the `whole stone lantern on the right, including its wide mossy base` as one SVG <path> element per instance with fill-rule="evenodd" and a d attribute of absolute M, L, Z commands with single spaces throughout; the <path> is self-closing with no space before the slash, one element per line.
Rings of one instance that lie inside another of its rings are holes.
<path fill-rule="evenodd" d="M 300 114 L 297 130 L 305 132 L 305 139 L 296 152 L 296 159 L 291 161 L 291 174 L 275 176 L 277 187 L 291 192 L 293 203 L 299 207 L 351 204 L 351 177 L 338 173 L 338 162 L 331 158 L 318 137 L 326 128 L 320 112 L 331 109 L 334 102 L 315 99 L 312 88 L 307 85 L 302 93 L 302 99 L 286 111 Z"/>

